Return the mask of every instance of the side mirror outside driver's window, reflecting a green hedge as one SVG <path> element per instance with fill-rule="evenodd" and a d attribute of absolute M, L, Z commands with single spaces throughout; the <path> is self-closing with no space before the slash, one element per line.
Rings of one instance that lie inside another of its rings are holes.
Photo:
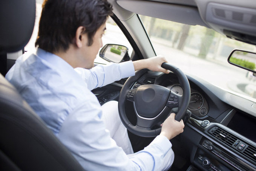
<path fill-rule="evenodd" d="M 106 61 L 120 63 L 129 61 L 128 48 L 119 44 L 106 44 L 100 50 L 100 57 Z"/>

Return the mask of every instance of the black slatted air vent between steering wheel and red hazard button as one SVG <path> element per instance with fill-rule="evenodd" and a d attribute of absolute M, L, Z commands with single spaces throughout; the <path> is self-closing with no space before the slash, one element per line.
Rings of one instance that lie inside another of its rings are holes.
<path fill-rule="evenodd" d="M 232 147 L 232 145 L 236 142 L 236 137 L 234 137 L 233 135 L 231 135 L 230 133 L 228 133 L 225 130 L 222 130 L 221 128 L 215 127 L 215 131 L 212 132 L 212 130 L 210 130 L 210 133 L 212 133 L 212 135 L 214 137 L 216 137 L 216 139 L 220 140 L 221 142 L 223 142 L 224 144 Z"/>

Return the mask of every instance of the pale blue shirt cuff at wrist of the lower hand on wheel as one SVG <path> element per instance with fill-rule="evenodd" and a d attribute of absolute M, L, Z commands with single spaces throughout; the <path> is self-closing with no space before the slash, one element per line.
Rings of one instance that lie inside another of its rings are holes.
<path fill-rule="evenodd" d="M 159 148 L 164 152 L 164 155 L 172 148 L 172 143 L 170 140 L 163 135 L 158 135 L 155 139 L 150 143 L 150 145 L 157 144 Z"/>

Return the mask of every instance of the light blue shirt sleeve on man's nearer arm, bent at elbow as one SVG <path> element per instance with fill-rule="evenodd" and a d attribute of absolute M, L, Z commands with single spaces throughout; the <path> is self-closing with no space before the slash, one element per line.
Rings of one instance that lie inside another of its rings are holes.
<path fill-rule="evenodd" d="M 63 122 L 57 137 L 86 170 L 156 171 L 172 144 L 157 136 L 144 150 L 127 156 L 110 137 L 101 119 L 101 108 L 85 103 Z"/>

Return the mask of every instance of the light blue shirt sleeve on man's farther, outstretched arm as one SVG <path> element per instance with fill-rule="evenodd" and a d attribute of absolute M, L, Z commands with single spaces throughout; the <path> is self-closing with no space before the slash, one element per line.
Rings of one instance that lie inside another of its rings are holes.
<path fill-rule="evenodd" d="M 106 86 L 114 81 L 135 75 L 132 61 L 126 61 L 119 64 L 100 64 L 92 69 L 76 68 L 75 71 L 81 75 L 89 90 Z"/>

